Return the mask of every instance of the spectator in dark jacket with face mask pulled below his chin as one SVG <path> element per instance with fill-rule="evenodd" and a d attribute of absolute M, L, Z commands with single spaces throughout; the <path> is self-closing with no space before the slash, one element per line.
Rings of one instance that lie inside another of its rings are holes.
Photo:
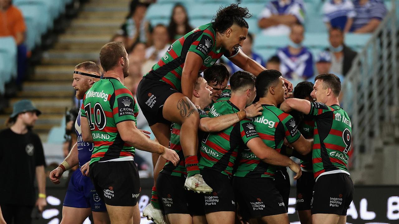
<path fill-rule="evenodd" d="M 352 62 L 357 53 L 344 44 L 344 31 L 342 29 L 331 28 L 328 32 L 330 47 L 326 50 L 331 52 L 330 73 L 345 76 L 352 67 Z"/>

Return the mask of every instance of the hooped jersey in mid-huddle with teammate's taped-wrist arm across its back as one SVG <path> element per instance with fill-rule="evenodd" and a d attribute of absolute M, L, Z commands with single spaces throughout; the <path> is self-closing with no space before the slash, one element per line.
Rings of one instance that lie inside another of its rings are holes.
<path fill-rule="evenodd" d="M 209 111 L 209 117 L 239 112 L 229 100 L 216 102 Z M 236 159 L 246 148 L 249 140 L 259 137 L 255 125 L 247 118 L 233 126 L 215 133 L 209 133 L 201 141 L 199 169 L 211 168 L 224 175 L 233 175 Z"/>

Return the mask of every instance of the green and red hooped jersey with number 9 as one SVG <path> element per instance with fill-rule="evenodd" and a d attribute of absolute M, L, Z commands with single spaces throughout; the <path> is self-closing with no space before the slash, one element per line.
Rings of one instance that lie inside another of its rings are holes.
<path fill-rule="evenodd" d="M 352 123 L 339 105 L 327 106 L 320 102 L 310 104 L 314 119 L 312 151 L 314 178 L 330 173 L 346 173 L 352 144 Z"/>

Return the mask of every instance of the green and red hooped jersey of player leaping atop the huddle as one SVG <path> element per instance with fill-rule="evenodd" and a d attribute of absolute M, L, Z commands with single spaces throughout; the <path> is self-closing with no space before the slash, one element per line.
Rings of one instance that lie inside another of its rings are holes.
<path fill-rule="evenodd" d="M 152 66 L 146 77 L 168 83 L 172 88 L 182 92 L 183 67 L 189 51 L 202 58 L 203 63 L 199 73 L 211 67 L 222 55 L 231 58 L 239 53 L 238 47 L 235 47 L 233 52 L 223 48 L 216 49 L 215 37 L 216 32 L 212 23 L 192 30 L 170 45 L 168 51 Z"/>

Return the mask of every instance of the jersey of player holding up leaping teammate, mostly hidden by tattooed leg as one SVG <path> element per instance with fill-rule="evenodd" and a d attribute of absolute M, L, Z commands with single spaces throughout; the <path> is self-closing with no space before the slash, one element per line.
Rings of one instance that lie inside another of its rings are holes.
<path fill-rule="evenodd" d="M 209 118 L 208 114 L 205 113 L 204 110 L 198 109 L 199 119 L 201 118 Z M 180 145 L 180 128 L 182 126 L 180 124 L 174 124 L 172 127 L 172 131 L 170 133 L 170 141 L 169 148 L 173 149 L 179 155 L 179 163 L 178 165 L 173 165 L 172 162 L 167 161 L 164 168 L 161 170 L 161 173 L 182 177 L 187 175 L 186 163 L 184 159 L 184 154 L 182 150 L 182 145 Z M 204 132 L 198 130 L 198 139 L 202 139 Z"/>

